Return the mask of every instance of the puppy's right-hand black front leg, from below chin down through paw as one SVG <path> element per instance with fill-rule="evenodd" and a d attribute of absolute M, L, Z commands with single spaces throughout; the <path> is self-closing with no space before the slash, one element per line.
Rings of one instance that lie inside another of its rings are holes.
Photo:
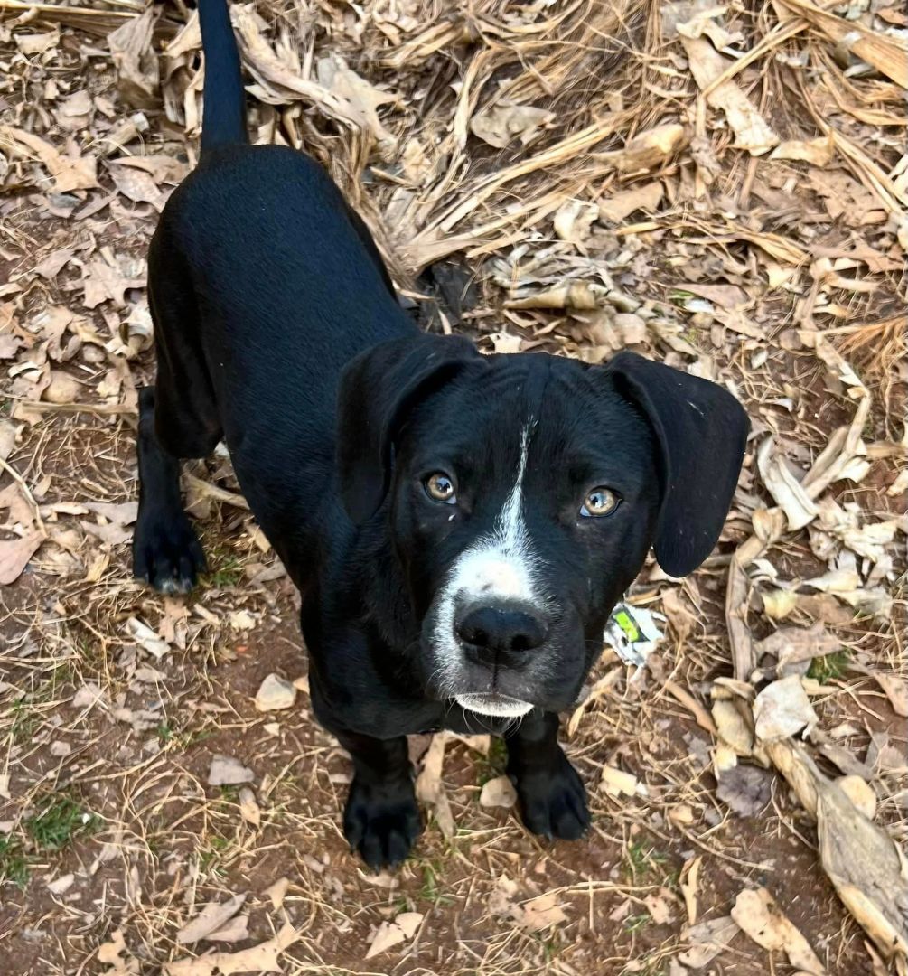
<path fill-rule="evenodd" d="M 558 715 L 534 710 L 505 733 L 507 773 L 533 834 L 576 840 L 590 824 L 586 790 L 558 745 Z"/>

